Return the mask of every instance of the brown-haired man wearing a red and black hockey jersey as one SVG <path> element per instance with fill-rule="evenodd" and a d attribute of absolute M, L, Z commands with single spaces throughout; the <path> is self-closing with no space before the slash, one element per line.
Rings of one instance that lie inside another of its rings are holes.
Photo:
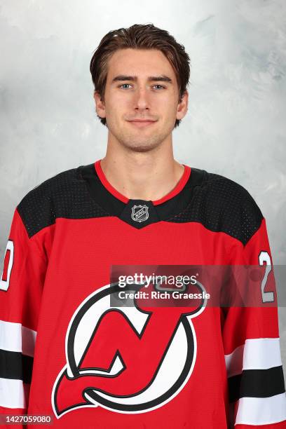
<path fill-rule="evenodd" d="M 46 180 L 13 217 L 2 412 L 55 428 L 286 428 L 273 282 L 259 306 L 182 309 L 135 299 L 135 281 L 135 306 L 121 306 L 112 281 L 139 266 L 272 264 L 250 194 L 173 157 L 189 56 L 165 30 L 133 25 L 104 36 L 90 71 L 106 156 Z"/>

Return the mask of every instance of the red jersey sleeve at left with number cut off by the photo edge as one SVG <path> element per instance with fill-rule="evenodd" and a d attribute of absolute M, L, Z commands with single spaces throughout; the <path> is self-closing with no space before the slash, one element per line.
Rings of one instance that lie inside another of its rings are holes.
<path fill-rule="evenodd" d="M 28 236 L 18 208 L 1 265 L 0 413 L 26 414 L 47 264 L 39 238 Z"/>

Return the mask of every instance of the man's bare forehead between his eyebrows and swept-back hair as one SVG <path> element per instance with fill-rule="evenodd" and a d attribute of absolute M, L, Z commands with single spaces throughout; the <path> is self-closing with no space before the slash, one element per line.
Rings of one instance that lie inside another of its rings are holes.
<path fill-rule="evenodd" d="M 117 74 L 153 76 L 165 74 L 175 80 L 175 71 L 169 60 L 158 49 L 118 49 L 108 62 L 107 81 Z"/>

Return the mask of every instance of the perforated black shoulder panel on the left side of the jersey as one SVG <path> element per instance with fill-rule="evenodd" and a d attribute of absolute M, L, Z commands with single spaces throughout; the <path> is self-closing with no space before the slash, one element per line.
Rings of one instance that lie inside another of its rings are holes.
<path fill-rule="evenodd" d="M 110 216 L 90 198 L 86 182 L 77 168 L 61 172 L 36 186 L 17 208 L 29 237 L 54 224 L 57 217 L 88 219 Z"/>

